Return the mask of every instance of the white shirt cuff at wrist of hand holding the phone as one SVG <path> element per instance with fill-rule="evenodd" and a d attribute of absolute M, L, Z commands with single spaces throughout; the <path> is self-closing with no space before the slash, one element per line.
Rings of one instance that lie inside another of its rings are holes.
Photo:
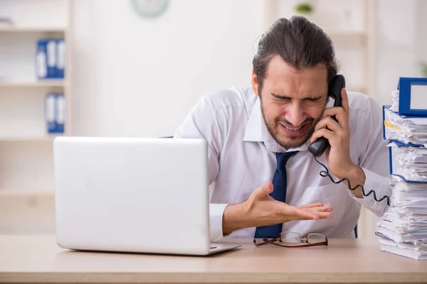
<path fill-rule="evenodd" d="M 368 195 L 371 191 L 373 192 L 371 192 L 368 196 L 363 195 L 362 198 L 359 198 L 354 195 L 352 190 L 349 190 L 349 187 L 346 185 L 347 191 L 354 200 L 357 200 L 357 202 L 364 205 L 364 207 L 367 207 L 377 216 L 382 216 L 384 212 L 386 212 L 386 209 L 388 209 L 389 205 L 387 204 L 387 198 L 384 198 L 384 200 L 381 200 L 381 198 L 384 197 L 384 195 L 390 198 L 391 185 L 389 184 L 386 177 L 371 172 L 371 170 L 367 170 L 366 168 L 362 168 L 362 170 L 364 171 L 364 175 L 366 177 L 365 183 L 363 185 L 364 192 L 366 195 Z M 374 194 L 376 196 L 376 200 L 381 200 L 381 202 L 377 202 L 375 200 Z"/>

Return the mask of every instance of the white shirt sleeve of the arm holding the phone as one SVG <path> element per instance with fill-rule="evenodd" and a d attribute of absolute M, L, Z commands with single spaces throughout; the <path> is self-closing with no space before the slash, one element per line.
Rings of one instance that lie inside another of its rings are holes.
<path fill-rule="evenodd" d="M 361 151 L 359 167 L 364 171 L 366 180 L 364 183 L 364 197 L 356 197 L 347 187 L 349 195 L 357 200 L 378 217 L 381 217 L 389 208 L 388 199 L 391 198 L 391 182 L 389 174 L 389 148 L 382 137 L 381 107 L 373 100 L 367 106 L 362 123 L 366 135 L 360 138 Z M 364 143 L 363 143 L 364 142 Z M 383 197 L 386 196 L 388 198 Z M 376 200 L 375 200 L 376 197 Z M 382 200 L 381 200 L 382 199 Z M 381 200 L 381 201 L 377 201 Z"/>

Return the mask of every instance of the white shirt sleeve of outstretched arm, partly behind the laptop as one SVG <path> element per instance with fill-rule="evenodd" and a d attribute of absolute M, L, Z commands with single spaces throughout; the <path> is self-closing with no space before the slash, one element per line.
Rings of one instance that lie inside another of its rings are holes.
<path fill-rule="evenodd" d="M 208 144 L 209 185 L 213 185 L 219 173 L 218 159 L 226 135 L 226 121 L 215 100 L 206 94 L 191 109 L 182 124 L 176 129 L 174 138 L 203 138 Z M 207 189 L 206 189 L 207 190 Z M 223 238 L 223 212 L 228 204 L 209 204 L 210 238 Z"/>

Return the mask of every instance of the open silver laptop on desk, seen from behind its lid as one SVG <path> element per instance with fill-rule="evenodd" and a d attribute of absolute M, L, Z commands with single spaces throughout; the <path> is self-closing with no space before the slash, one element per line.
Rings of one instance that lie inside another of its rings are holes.
<path fill-rule="evenodd" d="M 65 249 L 209 255 L 207 145 L 200 139 L 58 137 L 56 238 Z"/>

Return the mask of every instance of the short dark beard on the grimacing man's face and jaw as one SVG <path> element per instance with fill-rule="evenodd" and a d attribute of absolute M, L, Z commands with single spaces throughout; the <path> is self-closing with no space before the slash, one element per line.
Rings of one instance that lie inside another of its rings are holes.
<path fill-rule="evenodd" d="M 278 128 L 282 127 L 279 125 L 279 122 L 281 121 L 285 125 L 292 125 L 292 124 L 290 124 L 289 121 L 287 121 L 286 119 L 280 119 L 279 117 L 273 121 L 273 124 L 269 123 L 267 121 L 267 118 L 265 117 L 262 101 L 261 101 L 261 113 L 263 114 L 265 126 L 267 127 L 267 130 L 270 133 L 270 136 L 273 137 L 273 139 L 285 149 L 298 148 L 304 145 L 308 141 L 308 139 L 310 139 L 312 134 L 315 132 L 315 127 L 317 122 L 319 122 L 320 119 L 322 119 L 322 116 L 320 116 L 318 119 L 313 119 L 312 117 L 305 119 L 305 121 L 302 124 L 310 124 L 310 128 L 305 131 L 305 136 L 302 139 L 301 139 L 301 136 L 299 137 L 287 136 L 290 139 L 290 142 L 285 143 L 285 141 L 280 141 L 278 137 L 279 136 Z M 303 127 L 306 127 L 306 126 L 303 126 Z"/>

